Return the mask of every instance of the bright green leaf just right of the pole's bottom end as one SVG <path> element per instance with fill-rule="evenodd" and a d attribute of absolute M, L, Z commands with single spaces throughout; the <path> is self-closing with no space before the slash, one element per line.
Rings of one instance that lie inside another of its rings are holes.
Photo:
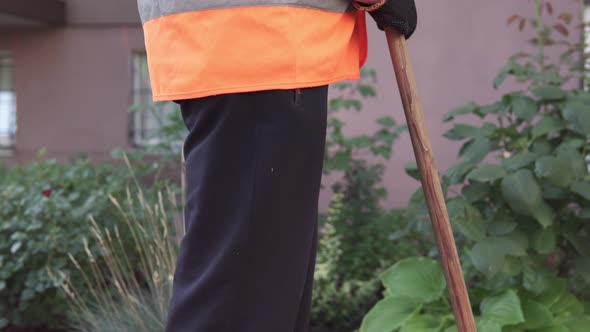
<path fill-rule="evenodd" d="M 485 298 L 480 305 L 482 317 L 501 326 L 524 322 L 520 299 L 513 290 Z"/>

